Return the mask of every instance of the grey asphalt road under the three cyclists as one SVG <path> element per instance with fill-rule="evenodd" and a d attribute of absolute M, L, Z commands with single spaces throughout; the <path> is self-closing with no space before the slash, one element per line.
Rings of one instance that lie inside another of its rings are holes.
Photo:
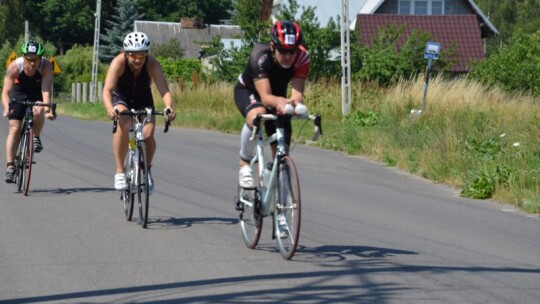
<path fill-rule="evenodd" d="M 297 146 L 300 248 L 247 249 L 237 135 L 157 131 L 148 229 L 113 189 L 111 123 L 47 122 L 28 197 L 0 183 L 1 303 L 538 303 L 540 219 Z M 7 120 L 0 122 L 2 158 Z M 136 213 L 135 213 L 136 214 Z"/>

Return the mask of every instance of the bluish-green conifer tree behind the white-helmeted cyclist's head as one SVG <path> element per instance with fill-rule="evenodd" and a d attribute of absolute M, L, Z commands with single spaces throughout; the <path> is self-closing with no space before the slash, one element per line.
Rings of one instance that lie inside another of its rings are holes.
<path fill-rule="evenodd" d="M 143 14 L 138 14 L 132 0 L 118 0 L 114 8 L 116 14 L 106 22 L 106 34 L 101 34 L 99 59 L 109 63 L 122 49 L 124 37 L 133 31 L 135 20 L 141 20 Z"/>

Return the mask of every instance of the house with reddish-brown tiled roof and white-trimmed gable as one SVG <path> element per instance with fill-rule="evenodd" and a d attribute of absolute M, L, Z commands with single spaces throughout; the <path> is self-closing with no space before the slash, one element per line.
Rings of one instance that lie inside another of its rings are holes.
<path fill-rule="evenodd" d="M 458 73 L 484 59 L 483 39 L 499 34 L 472 0 L 368 0 L 356 16 L 360 43 L 370 45 L 388 25 L 404 26 L 401 42 L 416 29 L 430 33 L 442 49 L 454 46 L 458 61 L 450 71 Z"/>

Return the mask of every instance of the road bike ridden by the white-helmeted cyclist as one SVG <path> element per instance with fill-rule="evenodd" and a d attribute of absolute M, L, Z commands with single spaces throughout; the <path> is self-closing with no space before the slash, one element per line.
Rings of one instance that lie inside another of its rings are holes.
<path fill-rule="evenodd" d="M 152 116 L 164 115 L 164 133 L 169 131 L 170 120 L 167 112 L 154 112 L 151 108 L 140 110 L 118 112 L 117 116 L 131 116 L 131 126 L 129 129 L 129 146 L 126 159 L 124 161 L 124 173 L 126 174 L 127 189 L 120 194 L 120 200 L 124 204 L 124 213 L 127 221 L 133 217 L 133 206 L 137 199 L 139 206 L 139 224 L 146 228 L 148 223 L 148 209 L 150 204 L 150 183 L 148 176 L 148 160 L 146 142 L 144 141 L 143 129 L 147 122 L 152 120 Z M 118 119 L 113 122 L 113 133 L 116 133 Z"/>

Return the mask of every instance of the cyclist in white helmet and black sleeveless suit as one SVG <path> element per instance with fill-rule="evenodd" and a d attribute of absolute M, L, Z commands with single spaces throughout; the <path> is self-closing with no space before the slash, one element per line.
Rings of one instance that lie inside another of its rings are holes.
<path fill-rule="evenodd" d="M 107 117 L 111 120 L 117 118 L 118 130 L 113 135 L 113 153 L 116 165 L 114 176 L 114 188 L 122 191 L 127 189 L 126 176 L 124 174 L 124 159 L 129 144 L 129 128 L 131 118 L 119 116 L 117 112 L 154 108 L 151 83 L 154 82 L 165 104 L 164 112 L 170 111 L 169 119 L 174 120 L 173 99 L 165 74 L 159 62 L 148 54 L 150 39 L 145 33 L 132 32 L 126 35 L 123 50 L 113 58 L 107 71 L 103 87 L 103 104 L 107 110 Z M 154 139 L 155 118 L 144 126 L 144 138 L 147 146 L 148 163 L 152 165 L 152 159 L 156 151 Z M 154 180 L 149 170 L 149 193 L 154 191 Z"/>

